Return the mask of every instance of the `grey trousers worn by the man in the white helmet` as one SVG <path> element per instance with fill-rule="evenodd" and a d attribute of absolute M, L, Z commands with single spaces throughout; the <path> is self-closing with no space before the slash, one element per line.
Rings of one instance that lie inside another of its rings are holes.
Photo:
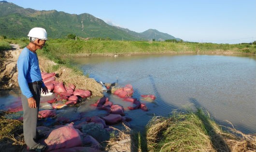
<path fill-rule="evenodd" d="M 37 108 L 28 107 L 28 98 L 21 94 L 21 101 L 23 107 L 23 134 L 25 142 L 29 148 L 34 147 L 37 143 L 35 142 L 37 135 L 37 117 L 40 104 L 41 96 L 41 85 L 39 84 L 28 84 L 30 91 L 36 100 Z"/>

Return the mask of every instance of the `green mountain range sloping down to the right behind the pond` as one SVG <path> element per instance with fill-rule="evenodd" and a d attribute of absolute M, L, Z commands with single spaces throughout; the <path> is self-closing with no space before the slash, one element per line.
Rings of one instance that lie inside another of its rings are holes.
<path fill-rule="evenodd" d="M 68 34 L 75 34 L 83 38 L 100 37 L 130 41 L 176 39 L 155 29 L 136 33 L 126 28 L 114 27 L 91 14 L 68 14 L 56 10 L 37 11 L 0 1 L 0 35 L 22 38 L 34 27 L 45 28 L 49 38 L 65 38 Z"/>

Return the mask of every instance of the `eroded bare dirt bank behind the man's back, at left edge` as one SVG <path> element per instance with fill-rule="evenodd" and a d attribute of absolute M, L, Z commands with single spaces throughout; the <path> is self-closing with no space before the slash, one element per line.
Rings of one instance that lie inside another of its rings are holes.
<path fill-rule="evenodd" d="M 22 49 L 18 44 L 11 44 L 12 50 L 3 52 L 3 63 L 0 66 L 0 89 L 12 89 L 18 87 L 17 60 Z"/>

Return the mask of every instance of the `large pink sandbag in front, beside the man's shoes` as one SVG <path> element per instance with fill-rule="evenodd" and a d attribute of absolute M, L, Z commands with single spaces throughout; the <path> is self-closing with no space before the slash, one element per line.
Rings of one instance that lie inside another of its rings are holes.
<path fill-rule="evenodd" d="M 47 145 L 47 151 L 79 147 L 83 145 L 80 133 L 74 128 L 73 124 L 68 124 L 52 130 L 44 142 Z"/>

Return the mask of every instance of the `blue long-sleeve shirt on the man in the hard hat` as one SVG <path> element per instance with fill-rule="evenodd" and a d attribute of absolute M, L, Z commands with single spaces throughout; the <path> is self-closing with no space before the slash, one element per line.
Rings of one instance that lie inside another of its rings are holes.
<path fill-rule="evenodd" d="M 17 61 L 18 68 L 18 83 L 20 90 L 24 96 L 27 98 L 33 97 L 31 91 L 29 90 L 28 83 L 35 81 L 42 81 L 41 71 L 39 69 L 38 57 L 35 53 L 28 50 L 25 47 L 18 58 Z M 44 83 L 42 87 L 44 87 Z"/>

